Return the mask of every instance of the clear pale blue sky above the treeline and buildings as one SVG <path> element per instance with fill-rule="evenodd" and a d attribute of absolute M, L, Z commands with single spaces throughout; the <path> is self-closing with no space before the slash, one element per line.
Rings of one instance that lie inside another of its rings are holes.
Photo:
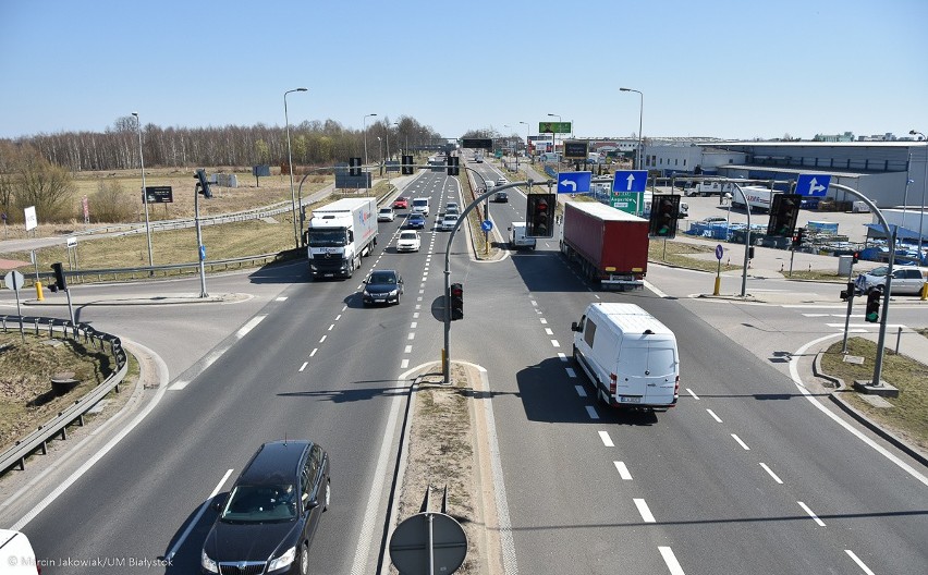
<path fill-rule="evenodd" d="M 445 137 L 928 132 L 926 0 L 0 0 L 0 137 L 411 115 Z M 368 119 L 368 124 L 373 119 Z M 512 127 L 504 127 L 509 124 Z"/>

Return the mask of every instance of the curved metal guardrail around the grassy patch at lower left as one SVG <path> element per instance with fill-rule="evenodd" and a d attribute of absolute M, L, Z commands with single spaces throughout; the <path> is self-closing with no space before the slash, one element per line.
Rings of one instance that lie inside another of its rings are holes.
<path fill-rule="evenodd" d="M 20 321 L 23 327 L 29 325 L 29 330 L 34 330 L 36 335 L 40 334 L 47 327 L 49 338 L 54 335 L 54 331 L 60 331 L 65 338 L 71 337 L 76 341 L 83 339 L 84 342 L 90 343 L 93 346 L 100 346 L 103 350 L 109 344 L 110 353 L 115 360 L 117 370 L 113 371 L 102 383 L 94 388 L 89 393 L 75 401 L 56 417 L 40 425 L 32 433 L 16 441 L 13 446 L 0 453 L 0 475 L 7 473 L 11 467 L 19 465 L 20 469 L 26 468 L 26 457 L 32 455 L 36 450 L 41 450 L 42 454 L 48 453 L 48 440 L 60 435 L 61 439 L 66 439 L 66 428 L 74 423 L 75 419 L 84 425 L 84 414 L 93 407 L 97 402 L 103 399 L 110 391 L 115 389 L 119 391 L 119 384 L 125 378 L 129 369 L 129 358 L 125 350 L 122 347 L 122 341 L 115 335 L 97 331 L 88 323 L 71 323 L 70 320 L 41 317 L 20 317 L 20 316 L 0 316 L 0 325 L 4 332 L 11 329 L 19 329 Z M 15 326 L 15 328 L 13 327 Z"/>

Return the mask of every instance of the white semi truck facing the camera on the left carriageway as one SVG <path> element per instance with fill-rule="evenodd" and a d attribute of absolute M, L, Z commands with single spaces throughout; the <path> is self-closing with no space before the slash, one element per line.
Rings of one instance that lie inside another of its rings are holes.
<path fill-rule="evenodd" d="M 377 245 L 377 200 L 343 198 L 317 208 L 305 235 L 313 278 L 351 278 Z"/>

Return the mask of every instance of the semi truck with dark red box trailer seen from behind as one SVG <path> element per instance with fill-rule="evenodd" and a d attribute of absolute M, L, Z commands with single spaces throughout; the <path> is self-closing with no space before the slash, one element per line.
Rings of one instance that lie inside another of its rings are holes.
<path fill-rule="evenodd" d="M 583 276 L 605 289 L 644 285 L 648 269 L 648 220 L 593 201 L 564 203 L 561 253 Z"/>

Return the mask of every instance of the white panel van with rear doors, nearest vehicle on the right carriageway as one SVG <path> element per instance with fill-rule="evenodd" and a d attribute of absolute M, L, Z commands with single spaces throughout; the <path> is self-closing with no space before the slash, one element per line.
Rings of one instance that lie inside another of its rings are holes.
<path fill-rule="evenodd" d="M 574 360 L 613 407 L 667 411 L 680 396 L 673 332 L 635 304 L 590 304 L 573 322 Z"/>

